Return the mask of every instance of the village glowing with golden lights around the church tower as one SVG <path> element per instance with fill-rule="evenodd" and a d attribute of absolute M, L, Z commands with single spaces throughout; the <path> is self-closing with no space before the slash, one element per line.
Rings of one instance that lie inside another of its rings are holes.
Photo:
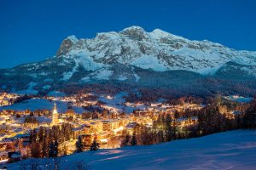
<path fill-rule="evenodd" d="M 4 96 L 16 97 L 15 94 L 4 94 Z M 31 156 L 31 132 L 32 129 L 40 127 L 51 128 L 61 127 L 61 124 L 68 123 L 72 126 L 71 137 L 67 141 L 59 144 L 60 150 L 65 148 L 65 154 L 73 154 L 76 151 L 78 139 L 84 144 L 84 150 L 90 150 L 90 145 L 96 140 L 100 149 L 113 149 L 121 146 L 121 138 L 125 134 L 133 135 L 137 125 L 143 127 L 153 127 L 160 115 L 170 115 L 172 126 L 183 132 L 183 128 L 196 126 L 197 116 L 177 116 L 177 112 L 199 111 L 204 105 L 193 103 L 183 103 L 182 105 L 171 105 L 166 103 L 151 103 L 143 109 L 136 109 L 127 114 L 104 103 L 93 102 L 88 98 L 90 94 L 84 94 L 85 100 L 77 96 L 69 97 L 47 97 L 53 107 L 51 109 L 38 109 L 30 111 L 2 110 L 0 111 L 0 162 L 19 161 L 22 158 Z M 110 96 L 106 96 L 111 99 Z M 88 100 L 86 100 L 88 99 Z M 65 101 L 68 104 L 67 111 L 58 111 L 56 101 Z M 2 102 L 3 103 L 3 102 Z M 12 105 L 12 104 L 9 104 Z M 83 113 L 77 113 L 73 106 L 83 106 L 88 109 Z M 140 103 L 128 103 L 124 105 L 137 106 L 145 105 Z M 89 110 L 94 108 L 94 110 Z M 100 109 L 99 109 L 100 108 Z M 227 114 L 225 108 L 222 111 Z M 237 113 L 234 113 L 237 114 Z M 227 114 L 230 119 L 235 116 L 233 112 Z M 61 149 L 62 148 L 62 149 Z"/>

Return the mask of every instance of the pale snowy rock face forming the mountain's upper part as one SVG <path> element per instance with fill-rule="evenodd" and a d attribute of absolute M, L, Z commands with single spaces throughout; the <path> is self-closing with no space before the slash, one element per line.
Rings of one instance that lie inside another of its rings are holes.
<path fill-rule="evenodd" d="M 92 71 L 108 70 L 109 65 L 120 63 L 154 71 L 186 70 L 212 74 L 229 61 L 256 65 L 255 52 L 236 51 L 206 40 L 190 41 L 160 29 L 147 32 L 139 26 L 98 33 L 92 39 L 67 37 L 56 57 L 79 59 L 85 70 Z M 67 79 L 73 71 L 67 72 Z"/>

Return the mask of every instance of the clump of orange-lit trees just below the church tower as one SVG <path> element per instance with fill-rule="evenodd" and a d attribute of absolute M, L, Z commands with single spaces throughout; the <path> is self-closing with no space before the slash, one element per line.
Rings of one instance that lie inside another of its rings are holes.
<path fill-rule="evenodd" d="M 72 125 L 68 123 L 52 128 L 33 129 L 30 134 L 31 156 L 39 158 L 67 155 L 67 147 L 60 148 L 59 145 L 72 139 L 72 129 Z"/>

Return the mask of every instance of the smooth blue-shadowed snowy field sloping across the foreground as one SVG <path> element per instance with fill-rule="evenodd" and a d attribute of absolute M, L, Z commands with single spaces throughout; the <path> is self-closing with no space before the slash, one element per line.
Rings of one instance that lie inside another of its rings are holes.
<path fill-rule="evenodd" d="M 166 144 L 66 156 L 90 169 L 256 169 L 256 131 L 237 130 Z M 19 169 L 10 164 L 8 169 Z"/>

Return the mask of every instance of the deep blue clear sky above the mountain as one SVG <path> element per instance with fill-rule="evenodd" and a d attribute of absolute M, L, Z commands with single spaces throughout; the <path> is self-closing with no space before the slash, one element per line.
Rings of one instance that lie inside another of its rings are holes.
<path fill-rule="evenodd" d="M 69 35 L 128 26 L 256 51 L 255 0 L 1 0 L 0 68 L 53 56 Z"/>

